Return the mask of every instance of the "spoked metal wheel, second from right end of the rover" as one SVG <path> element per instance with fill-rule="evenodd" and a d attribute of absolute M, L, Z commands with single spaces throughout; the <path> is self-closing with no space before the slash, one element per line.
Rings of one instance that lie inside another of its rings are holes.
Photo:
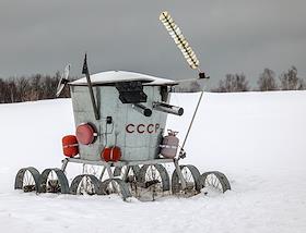
<path fill-rule="evenodd" d="M 178 196 L 190 197 L 200 193 L 202 183 L 201 174 L 195 165 L 179 165 L 186 188 L 183 188 L 178 171 L 175 170 L 172 176 L 172 193 Z"/>

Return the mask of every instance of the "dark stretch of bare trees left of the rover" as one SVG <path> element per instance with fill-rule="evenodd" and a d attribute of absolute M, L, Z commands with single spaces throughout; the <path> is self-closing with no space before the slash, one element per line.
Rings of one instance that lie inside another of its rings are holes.
<path fill-rule="evenodd" d="M 55 75 L 0 78 L 0 103 L 54 99 L 59 81 L 60 72 Z M 61 97 L 70 97 L 68 88 L 63 89 Z"/>

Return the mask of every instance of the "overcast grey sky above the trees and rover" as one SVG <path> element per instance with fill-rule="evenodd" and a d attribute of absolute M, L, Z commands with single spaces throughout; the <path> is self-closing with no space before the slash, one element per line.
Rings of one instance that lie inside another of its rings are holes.
<path fill-rule="evenodd" d="M 306 77 L 304 0 L 0 0 L 0 76 L 127 70 L 196 77 L 158 21 L 167 10 L 211 78 L 295 65 Z"/>

